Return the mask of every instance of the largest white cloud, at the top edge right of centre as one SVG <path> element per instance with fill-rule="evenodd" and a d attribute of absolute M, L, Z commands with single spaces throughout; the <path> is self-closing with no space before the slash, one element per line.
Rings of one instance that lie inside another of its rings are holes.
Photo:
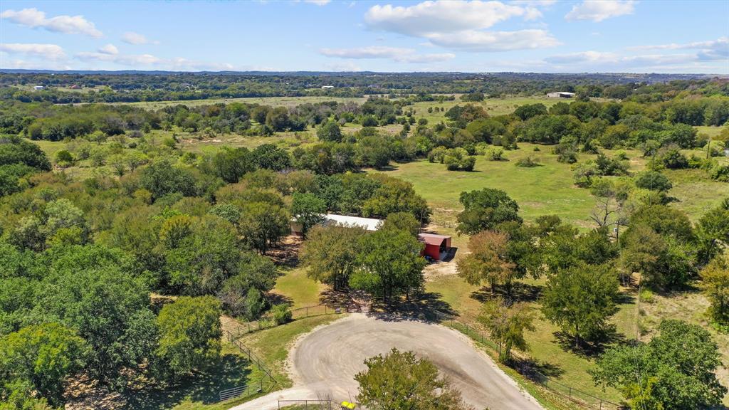
<path fill-rule="evenodd" d="M 386 4 L 367 10 L 364 21 L 370 28 L 408 36 L 489 28 L 515 16 L 526 15 L 523 7 L 499 1 L 424 1 L 402 7 Z"/>

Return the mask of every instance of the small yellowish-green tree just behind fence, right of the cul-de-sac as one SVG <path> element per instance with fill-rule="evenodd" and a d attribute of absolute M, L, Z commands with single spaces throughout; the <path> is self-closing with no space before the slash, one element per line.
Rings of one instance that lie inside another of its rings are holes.
<path fill-rule="evenodd" d="M 501 298 L 484 303 L 478 321 L 499 344 L 499 359 L 510 360 L 511 349 L 526 351 L 529 344 L 524 339 L 524 330 L 534 330 L 534 316 L 526 303 L 507 306 Z"/>

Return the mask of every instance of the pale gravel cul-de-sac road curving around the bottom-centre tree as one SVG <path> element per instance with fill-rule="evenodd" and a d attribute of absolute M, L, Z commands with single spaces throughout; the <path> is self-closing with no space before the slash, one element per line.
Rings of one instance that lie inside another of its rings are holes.
<path fill-rule="evenodd" d="M 364 359 L 393 347 L 428 357 L 481 410 L 541 410 L 485 353 L 456 330 L 418 321 L 389 321 L 350 314 L 300 338 L 289 353 L 294 387 L 271 392 L 231 410 L 278 409 L 278 400 L 332 398 L 354 401 L 354 374 Z"/>

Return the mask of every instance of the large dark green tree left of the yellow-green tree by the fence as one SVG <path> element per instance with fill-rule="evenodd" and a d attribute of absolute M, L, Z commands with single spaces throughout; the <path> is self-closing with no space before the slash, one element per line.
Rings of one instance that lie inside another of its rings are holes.
<path fill-rule="evenodd" d="M 75 330 L 89 345 L 86 370 L 106 384 L 125 382 L 154 350 L 149 288 L 119 250 L 99 245 L 52 249 L 36 288 L 33 315 Z"/>

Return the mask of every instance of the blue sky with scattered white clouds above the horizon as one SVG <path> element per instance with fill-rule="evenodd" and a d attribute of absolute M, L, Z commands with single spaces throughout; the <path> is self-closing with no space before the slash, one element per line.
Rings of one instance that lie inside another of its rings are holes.
<path fill-rule="evenodd" d="M 729 74 L 729 0 L 3 0 L 0 67 Z"/>

